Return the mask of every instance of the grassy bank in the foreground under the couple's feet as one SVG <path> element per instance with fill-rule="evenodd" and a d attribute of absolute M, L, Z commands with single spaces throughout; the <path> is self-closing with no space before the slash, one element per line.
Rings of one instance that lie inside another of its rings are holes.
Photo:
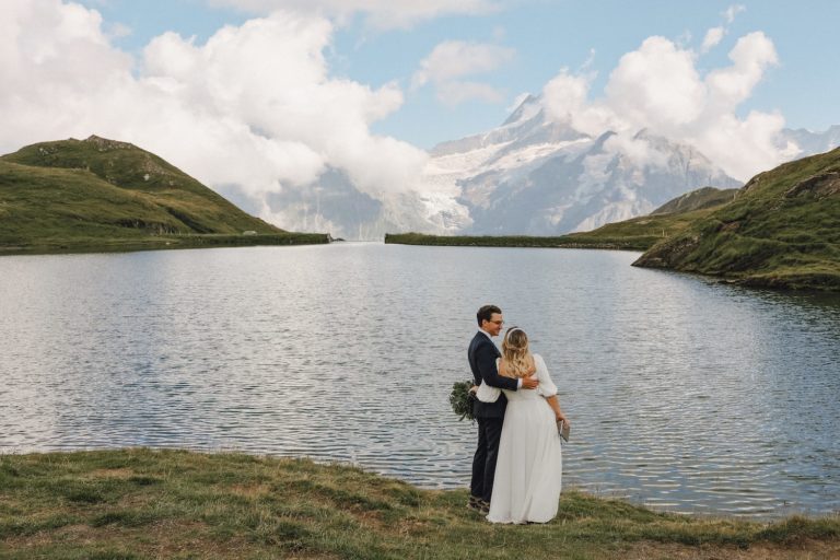
<path fill-rule="evenodd" d="M 567 491 L 491 525 L 466 491 L 348 466 L 145 448 L 0 456 L 0 558 L 838 558 L 840 517 L 658 514 Z"/>

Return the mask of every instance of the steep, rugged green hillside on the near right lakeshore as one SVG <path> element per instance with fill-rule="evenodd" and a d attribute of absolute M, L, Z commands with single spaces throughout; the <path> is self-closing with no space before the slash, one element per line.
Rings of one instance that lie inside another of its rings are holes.
<path fill-rule="evenodd" d="M 735 200 L 634 265 L 749 285 L 840 290 L 840 149 L 756 175 Z"/>

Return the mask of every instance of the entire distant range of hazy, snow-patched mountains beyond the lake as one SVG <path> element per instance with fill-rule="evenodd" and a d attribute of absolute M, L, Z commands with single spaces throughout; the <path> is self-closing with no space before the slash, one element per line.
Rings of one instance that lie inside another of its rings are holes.
<path fill-rule="evenodd" d="M 839 135 L 840 127 L 784 130 L 781 141 L 808 155 L 836 147 Z M 743 185 L 696 148 L 648 130 L 582 133 L 548 118 L 536 96 L 501 126 L 429 155 L 416 190 L 364 192 L 330 168 L 312 185 L 270 195 L 268 207 L 285 228 L 354 240 L 393 232 L 555 236 L 646 215 L 700 187 Z M 235 187 L 221 191 L 260 211 Z"/>

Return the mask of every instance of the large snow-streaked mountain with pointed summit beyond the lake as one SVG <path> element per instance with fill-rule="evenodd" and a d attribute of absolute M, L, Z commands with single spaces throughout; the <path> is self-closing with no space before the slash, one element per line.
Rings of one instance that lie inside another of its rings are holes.
<path fill-rule="evenodd" d="M 646 214 L 702 186 L 740 183 L 687 144 L 645 130 L 581 133 L 526 98 L 499 128 L 435 147 L 424 182 L 466 212 L 450 233 L 556 235 Z"/>

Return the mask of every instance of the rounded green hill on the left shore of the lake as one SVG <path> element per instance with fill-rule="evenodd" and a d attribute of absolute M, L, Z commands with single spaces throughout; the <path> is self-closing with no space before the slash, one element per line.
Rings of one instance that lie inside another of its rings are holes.
<path fill-rule="evenodd" d="M 0 253 L 326 242 L 248 215 L 129 143 L 93 136 L 0 158 Z"/>

